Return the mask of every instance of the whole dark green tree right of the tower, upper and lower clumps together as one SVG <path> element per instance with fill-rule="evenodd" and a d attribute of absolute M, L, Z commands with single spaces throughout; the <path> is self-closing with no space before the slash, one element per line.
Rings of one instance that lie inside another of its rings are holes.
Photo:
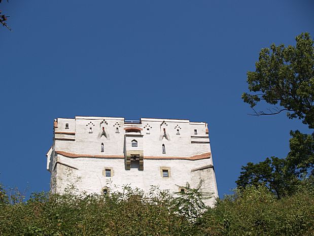
<path fill-rule="evenodd" d="M 255 115 L 273 115 L 288 111 L 289 118 L 302 119 L 309 128 L 314 128 L 314 41 L 309 33 L 296 37 L 296 46 L 285 47 L 272 44 L 263 48 L 256 71 L 248 72 L 249 90 L 243 93 L 244 102 L 254 107 L 263 100 L 280 108 L 255 112 Z M 255 110 L 254 110 L 255 111 Z M 290 152 L 287 158 L 266 158 L 254 164 L 242 166 L 236 181 L 238 187 L 263 184 L 278 198 L 292 194 L 300 180 L 313 175 L 314 133 L 302 134 L 290 131 Z"/>

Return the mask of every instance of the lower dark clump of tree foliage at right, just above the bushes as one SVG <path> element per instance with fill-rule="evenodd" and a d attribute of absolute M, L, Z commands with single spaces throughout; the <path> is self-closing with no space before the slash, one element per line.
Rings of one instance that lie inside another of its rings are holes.
<path fill-rule="evenodd" d="M 300 180 L 314 175 L 314 133 L 303 134 L 291 131 L 290 152 L 286 158 L 266 158 L 259 163 L 242 166 L 236 181 L 240 188 L 246 186 L 266 186 L 278 198 L 293 194 Z"/>

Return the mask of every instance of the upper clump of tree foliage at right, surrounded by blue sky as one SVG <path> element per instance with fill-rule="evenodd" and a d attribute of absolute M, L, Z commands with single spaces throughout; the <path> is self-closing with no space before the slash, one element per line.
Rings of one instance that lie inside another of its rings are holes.
<path fill-rule="evenodd" d="M 288 111 L 289 118 L 302 119 L 309 128 L 314 128 L 314 41 L 309 33 L 296 37 L 296 46 L 283 44 L 263 48 L 256 62 L 256 71 L 248 72 L 249 90 L 242 99 L 254 108 L 261 100 L 281 108 L 270 113 Z"/>

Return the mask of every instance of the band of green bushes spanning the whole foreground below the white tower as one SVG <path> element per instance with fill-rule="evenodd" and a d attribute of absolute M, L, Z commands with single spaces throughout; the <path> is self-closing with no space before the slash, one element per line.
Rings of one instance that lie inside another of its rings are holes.
<path fill-rule="evenodd" d="M 192 206 L 211 195 L 198 187 L 183 186 L 180 199 L 156 186 L 146 194 L 129 186 L 107 195 L 34 193 L 0 205 L 0 235 L 314 236 L 312 181 L 281 199 L 265 186 L 237 189 L 215 208 L 200 204 L 195 217 Z"/>

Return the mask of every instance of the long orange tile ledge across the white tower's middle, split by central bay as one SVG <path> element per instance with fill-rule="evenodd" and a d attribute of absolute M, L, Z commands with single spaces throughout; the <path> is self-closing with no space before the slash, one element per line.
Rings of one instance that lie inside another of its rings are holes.
<path fill-rule="evenodd" d="M 57 154 L 66 157 L 78 158 L 78 157 L 95 157 L 95 158 L 115 158 L 115 159 L 124 159 L 123 155 L 96 155 L 96 154 L 77 154 L 71 152 L 64 152 L 60 150 L 55 150 Z M 210 152 L 205 152 L 202 154 L 197 154 L 193 156 L 144 156 L 144 159 L 180 159 L 180 160 L 200 160 L 211 158 Z"/>

